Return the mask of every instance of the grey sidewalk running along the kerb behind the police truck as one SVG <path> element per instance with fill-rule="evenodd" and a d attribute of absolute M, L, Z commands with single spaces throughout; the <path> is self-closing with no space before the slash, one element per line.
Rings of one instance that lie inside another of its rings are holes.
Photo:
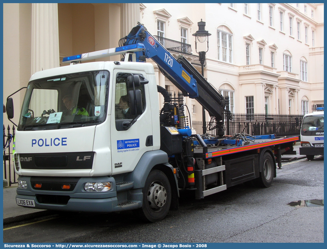
<path fill-rule="evenodd" d="M 294 145 L 294 150 L 296 155 L 285 155 L 282 156 L 282 160 L 286 158 L 305 158 L 305 156 L 300 156 L 299 154 L 300 142 L 297 142 Z M 19 222 L 27 218 L 36 218 L 51 214 L 53 211 L 43 210 L 43 209 L 34 209 L 20 207 L 16 204 L 16 189 L 17 187 L 9 187 L 3 189 L 3 221 L 4 224 Z"/>

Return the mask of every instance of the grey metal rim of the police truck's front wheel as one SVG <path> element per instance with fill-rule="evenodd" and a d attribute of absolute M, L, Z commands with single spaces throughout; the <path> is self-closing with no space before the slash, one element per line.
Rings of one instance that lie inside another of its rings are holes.
<path fill-rule="evenodd" d="M 167 200 L 167 192 L 161 182 L 156 181 L 150 185 L 147 200 L 153 211 L 158 212 L 163 208 Z"/>

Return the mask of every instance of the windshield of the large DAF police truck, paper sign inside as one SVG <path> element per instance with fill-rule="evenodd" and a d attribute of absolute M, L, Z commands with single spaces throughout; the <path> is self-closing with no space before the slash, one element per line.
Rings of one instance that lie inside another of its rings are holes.
<path fill-rule="evenodd" d="M 109 72 L 60 75 L 29 82 L 18 130 L 62 129 L 103 122 Z"/>

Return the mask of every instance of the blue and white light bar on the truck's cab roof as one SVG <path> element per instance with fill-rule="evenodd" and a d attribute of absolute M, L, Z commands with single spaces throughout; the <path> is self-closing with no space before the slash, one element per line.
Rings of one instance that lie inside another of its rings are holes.
<path fill-rule="evenodd" d="M 129 52 L 137 52 L 137 51 L 142 51 L 142 50 L 145 50 L 144 44 L 142 44 L 142 43 L 130 44 L 127 46 L 109 48 L 109 49 L 99 50 L 99 51 L 85 53 L 85 54 L 81 54 L 81 55 L 65 57 L 62 59 L 62 62 L 70 63 L 70 62 L 75 62 L 75 61 L 93 60 L 93 59 L 114 56 L 114 55 L 121 55 L 121 54 L 126 54 Z"/>

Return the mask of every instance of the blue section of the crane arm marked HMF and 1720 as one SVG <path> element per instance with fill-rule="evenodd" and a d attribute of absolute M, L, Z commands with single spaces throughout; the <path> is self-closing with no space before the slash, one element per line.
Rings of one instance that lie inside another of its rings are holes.
<path fill-rule="evenodd" d="M 170 80 L 190 98 L 198 97 L 197 82 L 181 64 L 168 52 L 143 25 L 134 27 L 126 38 L 125 45 L 142 43 L 146 50 L 135 52 L 136 61 L 151 58 L 167 75 Z"/>

